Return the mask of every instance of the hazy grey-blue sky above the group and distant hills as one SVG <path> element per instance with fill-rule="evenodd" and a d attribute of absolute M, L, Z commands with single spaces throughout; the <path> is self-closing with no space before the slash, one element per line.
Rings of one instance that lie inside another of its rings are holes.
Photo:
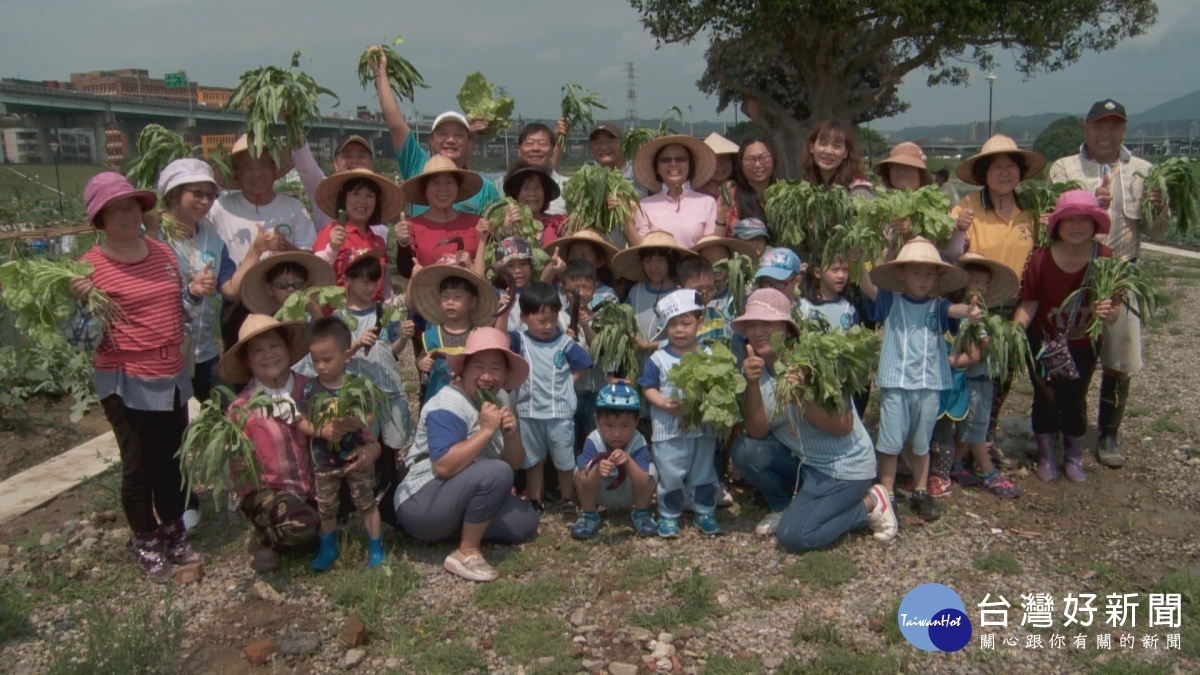
<path fill-rule="evenodd" d="M 604 118 L 625 117 L 625 64 L 637 76 L 637 113 L 656 118 L 677 104 L 684 119 L 734 121 L 732 107 L 696 88 L 707 40 L 656 48 L 640 16 L 623 0 L 0 0 L 0 77 L 68 79 L 71 72 L 143 67 L 152 77 L 185 68 L 193 82 L 232 86 L 259 65 L 287 65 L 292 52 L 308 54 L 301 67 L 338 92 L 334 110 L 378 108 L 355 76 L 366 46 L 404 36 L 398 48 L 431 89 L 418 90 L 406 113 L 456 108 L 467 74 L 482 71 L 506 88 L 522 117 L 558 117 L 560 86 L 569 82 L 599 92 Z M 102 26 L 102 28 L 101 28 Z M 100 28 L 100 30 L 97 30 Z M 1130 114 L 1200 89 L 1200 2 L 1159 0 L 1159 19 L 1147 35 L 1105 53 L 1088 53 L 1064 71 L 1022 82 L 1000 54 L 994 115 L 1068 112 L 1084 114 L 1099 98 L 1123 102 Z M 1193 43 L 1189 43 L 1193 42 Z M 900 89 L 912 108 L 874 123 L 880 130 L 985 120 L 986 73 L 967 86 L 928 88 L 911 73 Z"/>

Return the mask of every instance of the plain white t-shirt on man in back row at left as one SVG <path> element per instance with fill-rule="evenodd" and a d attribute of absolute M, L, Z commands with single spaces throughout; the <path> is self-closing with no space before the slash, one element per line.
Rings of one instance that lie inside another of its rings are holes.
<path fill-rule="evenodd" d="M 264 231 L 286 225 L 282 233 L 296 249 L 311 251 L 317 240 L 317 229 L 312 226 L 308 211 L 299 199 L 287 195 L 276 195 L 270 204 L 258 207 L 242 197 L 241 192 L 226 192 L 212 204 L 209 220 L 226 243 L 234 264 L 241 264 L 246 257 L 258 234 L 254 226 L 259 222 Z"/>

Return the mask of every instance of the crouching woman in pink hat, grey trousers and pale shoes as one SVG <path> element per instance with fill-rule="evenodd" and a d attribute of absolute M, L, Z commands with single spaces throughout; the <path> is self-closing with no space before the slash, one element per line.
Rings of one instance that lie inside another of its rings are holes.
<path fill-rule="evenodd" d="M 421 408 L 416 441 L 396 489 L 396 524 L 409 537 L 438 542 L 458 533 L 445 568 L 472 581 L 496 579 L 480 543 L 516 544 L 538 532 L 538 513 L 510 492 L 524 446 L 511 407 L 486 402 L 480 390 L 506 400 L 529 376 L 529 364 L 509 351 L 509 338 L 478 328 L 462 353 L 446 358 L 458 377 Z"/>

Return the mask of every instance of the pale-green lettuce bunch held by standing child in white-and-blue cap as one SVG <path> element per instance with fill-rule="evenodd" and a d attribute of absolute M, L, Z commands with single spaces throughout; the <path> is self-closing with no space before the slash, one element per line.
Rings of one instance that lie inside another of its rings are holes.
<path fill-rule="evenodd" d="M 679 419 L 685 430 L 708 424 L 726 438 L 740 422 L 746 378 L 725 345 L 713 342 L 708 351 L 684 354 L 667 374 L 667 382 L 677 388 Z"/>

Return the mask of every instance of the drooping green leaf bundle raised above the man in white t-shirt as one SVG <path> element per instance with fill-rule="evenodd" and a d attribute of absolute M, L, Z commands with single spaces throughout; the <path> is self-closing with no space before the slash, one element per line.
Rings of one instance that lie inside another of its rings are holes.
<path fill-rule="evenodd" d="M 259 66 L 241 73 L 238 84 L 222 110 L 246 108 L 246 141 L 250 154 L 258 157 L 269 150 L 278 160 L 280 147 L 275 125 L 283 120 L 288 147 L 299 148 L 305 143 L 306 130 L 320 119 L 317 100 L 322 94 L 331 96 L 336 108 L 341 100 L 337 94 L 317 84 L 300 67 L 300 55 L 292 54 L 292 67 Z"/>

